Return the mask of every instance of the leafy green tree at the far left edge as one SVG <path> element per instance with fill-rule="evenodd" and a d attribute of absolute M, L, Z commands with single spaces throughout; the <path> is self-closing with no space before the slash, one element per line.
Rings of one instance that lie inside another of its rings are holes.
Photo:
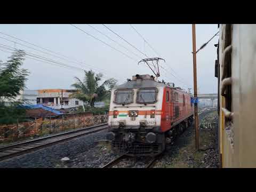
<path fill-rule="evenodd" d="M 17 100 L 17 95 L 25 89 L 29 74 L 27 69 L 21 69 L 26 53 L 15 51 L 6 62 L 0 62 L 0 124 L 17 122 L 25 115 L 25 110 L 19 105 L 23 100 Z"/>

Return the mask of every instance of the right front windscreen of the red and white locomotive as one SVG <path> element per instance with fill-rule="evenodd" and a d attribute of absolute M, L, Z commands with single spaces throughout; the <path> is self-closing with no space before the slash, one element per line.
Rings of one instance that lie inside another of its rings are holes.
<path fill-rule="evenodd" d="M 139 89 L 137 91 L 137 103 L 155 103 L 157 96 L 157 89 L 153 88 L 145 88 Z"/>

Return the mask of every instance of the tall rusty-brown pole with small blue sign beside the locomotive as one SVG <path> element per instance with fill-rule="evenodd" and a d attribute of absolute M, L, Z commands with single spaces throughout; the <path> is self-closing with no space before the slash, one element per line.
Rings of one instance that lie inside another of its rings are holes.
<path fill-rule="evenodd" d="M 196 150 L 199 149 L 199 130 L 198 130 L 198 113 L 197 113 L 197 76 L 196 76 L 196 25 L 192 24 L 192 41 L 193 41 L 193 71 L 194 71 L 194 98 L 195 98 L 195 132 L 196 132 Z"/>

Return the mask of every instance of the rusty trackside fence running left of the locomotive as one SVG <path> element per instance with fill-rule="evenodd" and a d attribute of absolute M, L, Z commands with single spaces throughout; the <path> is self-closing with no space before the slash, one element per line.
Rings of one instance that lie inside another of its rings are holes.
<path fill-rule="evenodd" d="M 58 133 L 65 130 L 77 129 L 107 123 L 108 114 L 88 115 L 85 113 L 66 114 L 57 117 L 39 118 L 31 122 L 17 121 L 16 124 L 0 126 L 0 142 L 12 142 L 29 137 Z"/>

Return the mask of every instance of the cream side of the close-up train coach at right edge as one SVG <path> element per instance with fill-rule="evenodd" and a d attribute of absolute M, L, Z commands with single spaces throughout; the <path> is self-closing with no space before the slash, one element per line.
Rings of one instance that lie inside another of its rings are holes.
<path fill-rule="evenodd" d="M 256 167 L 256 25 L 218 25 L 219 151 L 222 167 Z"/>

